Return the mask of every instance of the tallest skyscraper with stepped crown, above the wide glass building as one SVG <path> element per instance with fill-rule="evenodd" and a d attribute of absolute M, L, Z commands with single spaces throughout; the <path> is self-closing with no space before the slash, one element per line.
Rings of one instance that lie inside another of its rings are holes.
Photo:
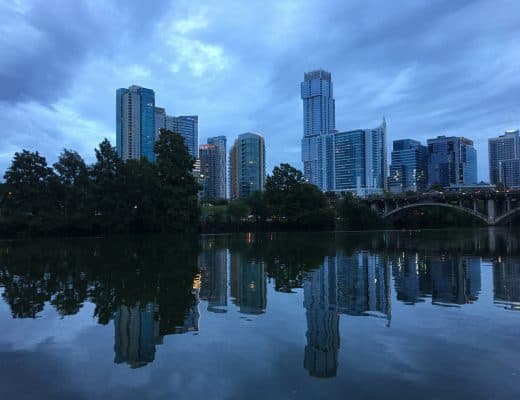
<path fill-rule="evenodd" d="M 316 70 L 304 74 L 302 161 L 305 179 L 323 187 L 320 164 L 320 137 L 336 126 L 334 94 L 330 72 Z"/>

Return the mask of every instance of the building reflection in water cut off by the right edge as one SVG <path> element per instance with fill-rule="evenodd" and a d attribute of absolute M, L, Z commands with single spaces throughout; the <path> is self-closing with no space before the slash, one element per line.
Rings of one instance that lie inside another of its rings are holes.
<path fill-rule="evenodd" d="M 520 260 L 501 258 L 493 261 L 493 294 L 497 304 L 520 311 Z"/>

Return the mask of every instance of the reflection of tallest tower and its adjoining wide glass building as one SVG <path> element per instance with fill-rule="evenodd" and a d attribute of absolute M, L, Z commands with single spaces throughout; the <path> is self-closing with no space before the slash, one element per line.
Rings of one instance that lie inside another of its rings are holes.
<path fill-rule="evenodd" d="M 381 257 L 365 252 L 325 257 L 303 284 L 307 317 L 304 368 L 309 375 L 336 376 L 340 347 L 339 316 L 391 319 L 390 272 Z"/>

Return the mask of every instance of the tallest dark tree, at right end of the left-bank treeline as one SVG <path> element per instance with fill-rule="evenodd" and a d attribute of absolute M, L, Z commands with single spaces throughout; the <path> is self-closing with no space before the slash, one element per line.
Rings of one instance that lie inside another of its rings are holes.
<path fill-rule="evenodd" d="M 156 170 L 161 188 L 158 210 L 163 230 L 182 231 L 198 226 L 200 186 L 193 176 L 195 160 L 181 135 L 161 129 L 155 143 Z"/>

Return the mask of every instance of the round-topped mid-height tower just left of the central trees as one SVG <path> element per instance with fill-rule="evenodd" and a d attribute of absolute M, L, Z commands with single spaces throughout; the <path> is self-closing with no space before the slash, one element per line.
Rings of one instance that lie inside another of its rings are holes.
<path fill-rule="evenodd" d="M 263 190 L 265 183 L 264 138 L 255 133 L 243 133 L 229 153 L 229 183 L 231 199 L 245 199 Z"/>

